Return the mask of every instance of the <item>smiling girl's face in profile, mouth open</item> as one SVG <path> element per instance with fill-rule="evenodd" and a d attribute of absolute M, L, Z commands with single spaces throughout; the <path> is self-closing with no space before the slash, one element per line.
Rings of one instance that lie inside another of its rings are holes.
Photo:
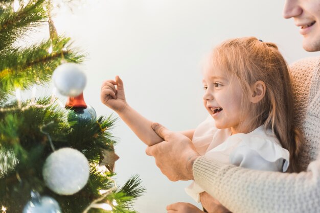
<path fill-rule="evenodd" d="M 236 78 L 228 79 L 224 72 L 207 67 L 203 73 L 204 107 L 215 120 L 218 129 L 231 128 L 239 133 L 243 91 Z M 242 121 L 243 122 L 243 121 Z"/>

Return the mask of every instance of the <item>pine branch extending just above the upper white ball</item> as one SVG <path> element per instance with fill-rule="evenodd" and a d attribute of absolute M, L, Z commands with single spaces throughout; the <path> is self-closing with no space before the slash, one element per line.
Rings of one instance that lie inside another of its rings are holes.
<path fill-rule="evenodd" d="M 53 45 L 51 54 L 48 53 L 50 45 Z M 34 84 L 45 84 L 51 80 L 54 69 L 62 59 L 81 62 L 85 55 L 68 50 L 70 45 L 70 38 L 59 37 L 54 41 L 42 41 L 29 48 L 15 48 L 2 53 L 0 55 L 0 90 L 10 92 L 17 87 L 28 89 Z"/>

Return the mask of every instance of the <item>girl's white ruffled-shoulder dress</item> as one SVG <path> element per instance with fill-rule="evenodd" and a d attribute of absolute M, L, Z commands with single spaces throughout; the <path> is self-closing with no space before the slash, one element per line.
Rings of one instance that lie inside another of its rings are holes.
<path fill-rule="evenodd" d="M 195 130 L 192 141 L 200 155 L 240 167 L 285 172 L 289 165 L 289 152 L 282 148 L 271 130 L 258 127 L 247 134 L 231 135 L 231 129 L 217 129 L 212 116 Z M 204 192 L 195 182 L 186 188 L 195 201 Z"/>

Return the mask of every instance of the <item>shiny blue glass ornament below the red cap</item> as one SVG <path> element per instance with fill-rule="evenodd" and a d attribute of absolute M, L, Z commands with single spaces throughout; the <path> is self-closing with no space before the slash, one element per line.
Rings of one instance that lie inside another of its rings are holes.
<path fill-rule="evenodd" d="M 82 124 L 95 121 L 97 114 L 94 108 L 87 105 L 87 108 L 71 108 L 68 112 L 68 123 Z"/>

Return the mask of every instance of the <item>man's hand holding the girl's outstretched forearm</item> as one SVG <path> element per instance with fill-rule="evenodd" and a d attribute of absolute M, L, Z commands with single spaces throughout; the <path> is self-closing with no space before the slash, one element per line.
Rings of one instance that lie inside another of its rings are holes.
<path fill-rule="evenodd" d="M 195 151 L 192 141 L 160 124 L 153 123 L 151 127 L 165 141 L 147 147 L 147 155 L 155 158 L 157 167 L 169 180 L 193 180 L 192 165 L 200 155 Z"/>

